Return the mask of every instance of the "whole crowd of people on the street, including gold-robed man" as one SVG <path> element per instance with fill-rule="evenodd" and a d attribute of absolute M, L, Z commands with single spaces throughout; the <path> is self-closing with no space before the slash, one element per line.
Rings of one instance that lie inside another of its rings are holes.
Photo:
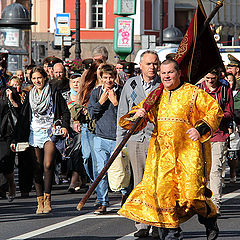
<path fill-rule="evenodd" d="M 3 59 L 0 196 L 9 202 L 16 196 L 17 159 L 21 197 L 34 183 L 36 214 L 50 213 L 52 185 L 67 181 L 69 193 L 86 188 L 141 117 L 127 142 L 133 177 L 120 190 L 119 214 L 135 221 L 135 237 L 147 237 L 152 227 L 160 239 L 182 239 L 180 223 L 198 214 L 207 238 L 216 239 L 226 164 L 231 184 L 239 173 L 240 61 L 232 55 L 229 61 L 226 70 L 213 69 L 191 85 L 172 55 L 160 63 L 151 50 L 142 53 L 140 71 L 134 63 L 108 63 L 103 46 L 76 72 L 47 57 L 9 77 Z M 147 112 L 144 101 L 161 83 Z M 96 188 L 95 214 L 107 213 L 108 181 L 104 176 Z"/>

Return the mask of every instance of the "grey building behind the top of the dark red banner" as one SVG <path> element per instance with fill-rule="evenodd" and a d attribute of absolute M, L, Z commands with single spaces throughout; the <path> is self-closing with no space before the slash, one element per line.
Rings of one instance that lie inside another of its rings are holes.
<path fill-rule="evenodd" d="M 216 1 L 215 1 L 216 2 Z M 202 0 L 207 16 L 216 4 L 214 1 Z M 183 33 L 188 27 L 194 11 L 196 0 L 168 0 L 168 23 L 178 27 Z M 224 0 L 223 7 L 213 18 L 216 34 L 219 35 L 218 43 L 222 45 L 240 45 L 240 1 Z"/>

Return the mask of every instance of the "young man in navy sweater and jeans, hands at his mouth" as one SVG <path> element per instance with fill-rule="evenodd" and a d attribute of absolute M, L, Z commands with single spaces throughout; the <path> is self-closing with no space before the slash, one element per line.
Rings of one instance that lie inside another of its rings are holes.
<path fill-rule="evenodd" d="M 115 84 L 117 72 L 112 65 L 103 65 L 100 76 L 103 84 L 92 91 L 88 104 L 90 117 L 96 120 L 94 151 L 98 174 L 109 160 L 116 145 L 117 110 L 122 90 Z M 104 214 L 109 203 L 107 176 L 99 183 L 96 192 L 100 206 L 94 213 Z"/>

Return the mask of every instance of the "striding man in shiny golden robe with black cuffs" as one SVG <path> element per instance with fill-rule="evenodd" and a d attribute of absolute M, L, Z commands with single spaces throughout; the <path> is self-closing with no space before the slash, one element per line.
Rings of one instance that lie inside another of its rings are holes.
<path fill-rule="evenodd" d="M 165 60 L 160 74 L 164 89 L 154 107 L 147 113 L 143 101 L 119 121 L 129 129 L 134 119 L 143 117 L 137 131 L 147 121 L 155 125 L 142 182 L 119 214 L 158 227 L 160 239 L 182 239 L 180 223 L 198 214 L 207 239 L 216 239 L 216 208 L 206 184 L 211 168 L 209 140 L 223 112 L 202 89 L 180 80 L 176 61 Z"/>

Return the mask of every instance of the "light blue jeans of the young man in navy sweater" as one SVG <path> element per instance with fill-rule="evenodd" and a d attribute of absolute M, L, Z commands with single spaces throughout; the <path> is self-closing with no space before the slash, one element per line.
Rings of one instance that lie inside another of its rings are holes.
<path fill-rule="evenodd" d="M 107 161 L 109 160 L 111 153 L 114 151 L 116 141 L 109 140 L 101 137 L 94 138 L 94 151 L 97 160 L 97 172 L 102 171 Z M 108 178 L 107 174 L 103 177 L 101 182 L 96 188 L 97 199 L 103 206 L 108 206 Z"/>

